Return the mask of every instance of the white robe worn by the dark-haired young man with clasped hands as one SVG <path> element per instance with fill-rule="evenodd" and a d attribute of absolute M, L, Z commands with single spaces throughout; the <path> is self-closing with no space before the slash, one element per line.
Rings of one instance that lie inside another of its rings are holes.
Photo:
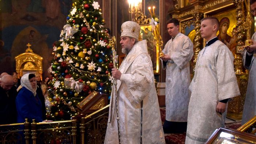
<path fill-rule="evenodd" d="M 193 57 L 193 43 L 189 37 L 178 33 L 166 43 L 163 53 L 172 58 L 166 65 L 165 119 L 187 122 L 190 98 L 188 87 L 191 81 L 189 61 Z"/>

